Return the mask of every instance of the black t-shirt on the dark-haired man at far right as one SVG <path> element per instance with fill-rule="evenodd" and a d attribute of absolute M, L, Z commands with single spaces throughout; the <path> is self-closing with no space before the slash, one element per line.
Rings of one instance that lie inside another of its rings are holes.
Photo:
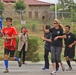
<path fill-rule="evenodd" d="M 73 33 L 66 34 L 66 38 L 64 39 L 64 41 L 65 41 L 65 47 L 68 47 L 75 40 L 76 40 L 76 38 L 75 38 L 75 35 Z"/>

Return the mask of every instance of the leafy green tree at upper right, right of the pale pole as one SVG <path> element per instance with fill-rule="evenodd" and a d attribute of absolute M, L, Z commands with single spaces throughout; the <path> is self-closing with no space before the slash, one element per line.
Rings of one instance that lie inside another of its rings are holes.
<path fill-rule="evenodd" d="M 58 0 L 59 9 L 58 11 L 61 12 L 70 12 L 71 15 L 68 15 L 69 13 L 63 14 L 64 17 L 70 18 L 72 22 L 75 22 L 76 20 L 76 3 L 74 0 Z"/>

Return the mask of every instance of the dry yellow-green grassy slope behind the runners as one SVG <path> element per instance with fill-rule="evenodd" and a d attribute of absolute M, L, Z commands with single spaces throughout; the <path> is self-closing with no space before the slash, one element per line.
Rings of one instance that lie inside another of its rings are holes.
<path fill-rule="evenodd" d="M 5 25 L 5 22 L 3 23 Z M 39 57 L 40 60 L 43 60 L 43 55 L 44 55 L 44 42 L 42 41 L 42 36 L 43 36 L 43 31 L 41 27 L 41 22 L 40 21 L 27 21 L 26 24 L 20 24 L 19 21 L 14 21 L 13 25 L 17 28 L 18 32 L 20 32 L 20 29 L 22 26 L 25 26 L 28 29 L 28 34 L 29 38 L 30 36 L 36 36 L 38 37 L 38 43 L 39 43 Z M 75 24 L 71 25 L 71 31 L 76 33 L 76 26 Z M 3 39 L 0 38 L 0 59 L 3 59 Z M 61 55 L 62 60 L 65 60 L 64 58 L 64 49 L 62 51 Z M 50 59 L 50 54 L 49 54 L 49 59 Z M 50 59 L 51 60 L 51 59 Z"/>

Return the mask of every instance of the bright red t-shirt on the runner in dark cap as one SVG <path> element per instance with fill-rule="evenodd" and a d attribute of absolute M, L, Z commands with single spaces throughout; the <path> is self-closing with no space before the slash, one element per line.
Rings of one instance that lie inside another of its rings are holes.
<path fill-rule="evenodd" d="M 2 29 L 4 37 L 12 37 L 14 35 L 17 35 L 17 30 L 15 27 L 4 27 Z M 4 40 L 4 47 L 9 50 L 15 50 L 16 49 L 16 38 L 15 39 L 9 39 L 9 40 Z"/>

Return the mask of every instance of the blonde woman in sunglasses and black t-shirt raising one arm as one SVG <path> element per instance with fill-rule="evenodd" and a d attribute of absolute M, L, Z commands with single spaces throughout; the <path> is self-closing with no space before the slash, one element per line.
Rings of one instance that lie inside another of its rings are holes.
<path fill-rule="evenodd" d="M 62 28 L 62 25 L 60 25 L 60 21 L 58 19 L 54 20 L 54 27 L 46 30 L 43 25 L 44 32 L 52 33 L 52 43 L 51 43 L 51 60 L 53 65 L 53 71 L 51 72 L 52 75 L 56 74 L 56 62 L 61 63 L 62 69 L 64 69 L 64 66 L 61 62 L 61 52 L 62 52 L 62 39 L 65 38 L 65 34 Z"/>

